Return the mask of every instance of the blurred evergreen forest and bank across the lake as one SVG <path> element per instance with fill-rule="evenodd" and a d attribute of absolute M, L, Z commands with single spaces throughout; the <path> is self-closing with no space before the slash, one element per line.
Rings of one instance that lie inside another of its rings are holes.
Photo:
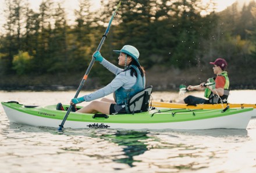
<path fill-rule="evenodd" d="M 43 1 L 39 12 L 25 0 L 5 2 L 0 89 L 67 90 L 78 87 L 119 1 L 102 2 L 94 12 L 90 1 L 80 1 L 72 25 L 61 3 L 53 0 Z M 101 54 L 117 64 L 113 49 L 136 46 L 147 85 L 157 91 L 204 82 L 214 75 L 209 62 L 223 57 L 230 89 L 255 89 L 255 1 L 241 9 L 234 3 L 219 13 L 210 5 L 200 0 L 123 1 Z M 84 89 L 100 88 L 112 78 L 95 62 Z"/>

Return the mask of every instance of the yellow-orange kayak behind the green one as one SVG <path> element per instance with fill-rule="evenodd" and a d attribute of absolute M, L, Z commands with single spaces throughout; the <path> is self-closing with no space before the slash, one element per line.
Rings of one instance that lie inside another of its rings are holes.
<path fill-rule="evenodd" d="M 225 104 L 195 104 L 187 105 L 182 103 L 168 103 L 168 102 L 157 102 L 152 101 L 152 106 L 161 108 L 172 108 L 172 109 L 224 109 L 229 106 L 230 108 L 247 108 L 253 107 L 251 111 L 252 117 L 256 117 L 256 104 L 244 104 L 244 103 L 225 103 Z"/>

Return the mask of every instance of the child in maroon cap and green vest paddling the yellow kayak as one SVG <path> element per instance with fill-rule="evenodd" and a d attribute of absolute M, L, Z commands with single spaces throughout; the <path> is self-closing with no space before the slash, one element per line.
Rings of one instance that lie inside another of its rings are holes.
<path fill-rule="evenodd" d="M 218 58 L 213 64 L 215 78 L 209 78 L 208 82 L 212 82 L 213 85 L 205 86 L 205 82 L 201 83 L 199 87 L 193 87 L 189 85 L 186 89 L 188 91 L 205 91 L 205 98 L 198 98 L 195 96 L 187 96 L 184 100 L 180 100 L 178 103 L 186 103 L 189 105 L 194 104 L 214 104 L 214 103 L 226 103 L 229 96 L 229 78 L 227 77 L 227 62 L 225 59 Z"/>

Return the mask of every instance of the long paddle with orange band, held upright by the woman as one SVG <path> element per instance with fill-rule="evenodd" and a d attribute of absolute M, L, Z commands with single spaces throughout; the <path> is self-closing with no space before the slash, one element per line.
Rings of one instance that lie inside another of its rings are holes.
<path fill-rule="evenodd" d="M 105 31 L 104 35 L 102 35 L 101 42 L 99 42 L 97 51 L 100 51 L 100 50 L 101 50 L 101 46 L 104 44 L 104 41 L 105 41 L 105 39 L 106 39 L 106 35 L 108 35 L 109 28 L 111 27 L 112 20 L 113 20 L 115 14 L 116 14 L 116 11 L 118 10 L 118 8 L 119 8 L 120 5 L 121 5 L 121 1 L 118 3 L 118 6 L 116 6 L 116 10 L 115 10 L 115 12 L 113 13 L 113 15 L 112 15 L 112 17 L 111 17 L 111 19 L 110 19 L 110 21 L 109 21 L 109 23 L 108 23 L 108 27 L 106 28 L 106 31 Z M 94 62 L 95 62 L 95 57 L 93 57 L 93 59 L 91 60 L 91 63 L 89 64 L 89 66 L 88 66 L 88 68 L 87 68 L 87 70 L 86 70 L 86 74 L 84 74 L 83 80 L 81 80 L 80 85 L 79 85 L 79 88 L 78 88 L 77 91 L 76 91 L 76 95 L 74 95 L 74 98 L 77 98 L 77 96 L 79 95 L 79 92 L 80 92 L 81 88 L 83 87 L 84 82 L 86 82 L 87 77 L 88 77 L 88 74 L 90 73 L 91 67 L 93 67 Z M 72 109 L 73 106 L 74 106 L 74 105 L 70 105 L 70 106 L 69 106 L 69 109 L 67 109 L 67 113 L 66 113 L 65 117 L 63 118 L 61 124 L 59 125 L 59 128 L 58 128 L 58 133 L 59 133 L 59 134 L 62 134 L 62 133 L 63 133 L 63 131 L 62 131 L 63 125 L 64 125 L 65 121 L 67 120 L 67 117 L 69 116 L 69 113 L 70 113 L 70 111 L 71 111 L 71 109 Z"/>

